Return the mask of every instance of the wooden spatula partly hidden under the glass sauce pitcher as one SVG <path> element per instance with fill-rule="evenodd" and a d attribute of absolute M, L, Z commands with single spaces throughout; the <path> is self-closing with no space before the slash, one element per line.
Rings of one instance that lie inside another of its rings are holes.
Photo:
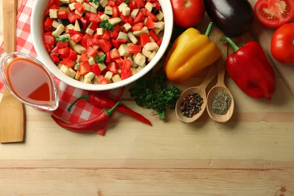
<path fill-rule="evenodd" d="M 3 0 L 4 51 L 7 53 L 16 48 L 16 5 L 17 0 Z M 24 105 L 5 89 L 0 102 L 0 143 L 22 142 L 24 133 Z"/>

